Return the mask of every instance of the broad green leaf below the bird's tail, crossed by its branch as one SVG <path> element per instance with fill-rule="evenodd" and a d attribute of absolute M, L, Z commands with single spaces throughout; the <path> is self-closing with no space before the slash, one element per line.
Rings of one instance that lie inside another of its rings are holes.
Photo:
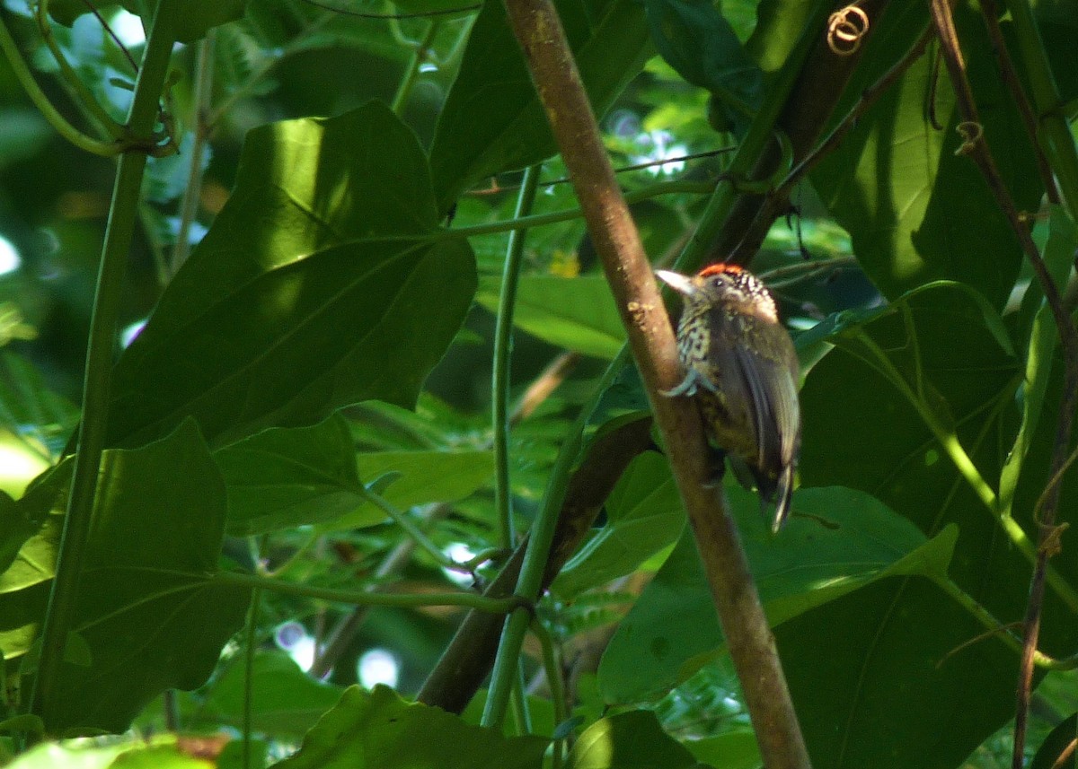
<path fill-rule="evenodd" d="M 879 501 L 844 488 L 801 489 L 772 536 L 760 503 L 729 488 L 752 575 L 773 625 L 892 574 L 945 574 L 955 532 L 925 536 Z M 692 674 L 723 645 L 689 530 L 619 625 L 599 666 L 608 702 L 632 702 Z"/>

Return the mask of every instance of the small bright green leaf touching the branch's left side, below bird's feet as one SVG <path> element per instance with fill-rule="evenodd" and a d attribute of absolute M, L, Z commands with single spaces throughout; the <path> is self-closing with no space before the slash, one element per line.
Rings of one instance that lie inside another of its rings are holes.
<path fill-rule="evenodd" d="M 672 544 L 685 528 L 685 509 L 666 458 L 654 451 L 633 460 L 606 501 L 607 522 L 558 573 L 559 598 L 632 572 Z"/>

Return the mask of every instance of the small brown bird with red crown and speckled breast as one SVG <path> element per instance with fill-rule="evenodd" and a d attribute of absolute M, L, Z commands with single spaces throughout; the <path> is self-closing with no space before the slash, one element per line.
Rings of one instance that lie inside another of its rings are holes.
<path fill-rule="evenodd" d="M 775 503 L 777 532 L 790 513 L 801 408 L 798 355 L 775 299 L 733 264 L 713 264 L 692 277 L 655 275 L 685 302 L 677 342 L 686 377 L 664 394 L 696 396 L 708 439 L 748 465 L 761 508 Z"/>

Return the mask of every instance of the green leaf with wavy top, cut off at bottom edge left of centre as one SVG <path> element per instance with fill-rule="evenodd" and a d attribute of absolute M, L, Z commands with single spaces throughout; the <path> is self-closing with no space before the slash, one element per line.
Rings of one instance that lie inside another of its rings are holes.
<path fill-rule="evenodd" d="M 353 686 L 274 769 L 534 769 L 547 744 L 469 726 L 439 708 L 406 703 L 385 686 Z"/>

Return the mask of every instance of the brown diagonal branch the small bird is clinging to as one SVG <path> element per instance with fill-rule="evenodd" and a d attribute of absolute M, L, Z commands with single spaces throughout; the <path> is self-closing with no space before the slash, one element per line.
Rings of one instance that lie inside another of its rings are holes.
<path fill-rule="evenodd" d="M 707 451 L 695 405 L 687 399 L 659 394 L 681 378 L 674 332 L 603 146 L 562 23 L 549 0 L 506 0 L 506 6 L 651 400 L 763 763 L 770 769 L 805 769 L 808 754 L 774 637 L 736 527 L 722 495 L 708 484 Z"/>

